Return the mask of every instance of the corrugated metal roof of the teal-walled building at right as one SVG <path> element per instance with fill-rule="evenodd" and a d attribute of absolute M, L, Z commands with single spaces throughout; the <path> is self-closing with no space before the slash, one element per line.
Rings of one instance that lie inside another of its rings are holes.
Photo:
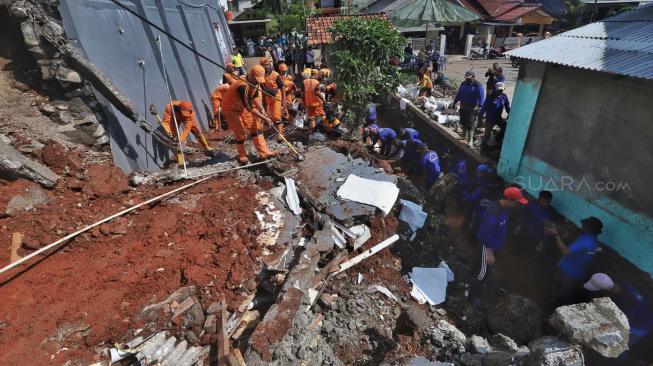
<path fill-rule="evenodd" d="M 653 4 L 517 48 L 508 54 L 653 79 Z"/>

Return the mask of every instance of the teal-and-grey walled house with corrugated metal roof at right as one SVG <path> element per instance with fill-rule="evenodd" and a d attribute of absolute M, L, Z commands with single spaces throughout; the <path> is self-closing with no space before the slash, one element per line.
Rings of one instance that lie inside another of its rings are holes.
<path fill-rule="evenodd" d="M 653 4 L 509 52 L 522 60 L 499 174 L 653 274 Z"/>

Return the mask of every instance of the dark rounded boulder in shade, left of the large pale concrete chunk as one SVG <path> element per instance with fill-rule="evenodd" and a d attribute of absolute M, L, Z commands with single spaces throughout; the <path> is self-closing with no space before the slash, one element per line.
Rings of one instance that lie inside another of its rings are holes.
<path fill-rule="evenodd" d="M 519 343 L 528 343 L 541 332 L 541 311 L 531 300 L 510 295 L 487 311 L 487 325 Z"/>

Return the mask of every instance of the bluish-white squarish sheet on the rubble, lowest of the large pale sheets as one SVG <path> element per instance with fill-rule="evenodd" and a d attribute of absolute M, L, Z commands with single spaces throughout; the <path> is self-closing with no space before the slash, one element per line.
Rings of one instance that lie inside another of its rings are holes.
<path fill-rule="evenodd" d="M 413 267 L 411 295 L 418 301 L 438 305 L 447 298 L 447 270 L 444 268 Z"/>

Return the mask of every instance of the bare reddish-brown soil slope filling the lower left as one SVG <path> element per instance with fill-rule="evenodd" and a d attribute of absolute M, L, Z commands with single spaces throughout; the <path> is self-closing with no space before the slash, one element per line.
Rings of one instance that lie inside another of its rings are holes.
<path fill-rule="evenodd" d="M 91 168 L 97 173 L 91 184 L 119 192 L 114 169 Z M 174 188 L 145 186 L 86 200 L 81 192 L 60 186 L 38 210 L 0 219 L 0 241 L 10 243 L 13 232 L 23 233 L 27 245 L 19 254 L 24 256 L 31 252 L 26 247 L 49 244 Z M 4 275 L 0 364 L 92 363 L 95 347 L 126 341 L 135 329 L 163 327 L 168 318 L 150 324 L 140 311 L 182 286 L 197 286 L 204 307 L 220 294 L 236 307 L 247 295 L 243 284 L 259 269 L 253 212 L 261 208 L 245 199 L 257 192 L 255 185 L 235 178 L 216 178 L 78 236 L 13 280 Z M 9 250 L 0 252 L 0 261 L 9 262 Z"/>

